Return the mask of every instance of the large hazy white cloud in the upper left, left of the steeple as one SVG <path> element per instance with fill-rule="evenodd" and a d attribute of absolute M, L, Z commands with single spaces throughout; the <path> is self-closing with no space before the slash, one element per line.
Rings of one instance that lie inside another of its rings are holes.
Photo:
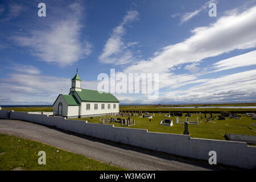
<path fill-rule="evenodd" d="M 91 52 L 90 43 L 80 41 L 82 7 L 73 3 L 67 7 L 63 19 L 52 20 L 49 27 L 33 29 L 27 36 L 13 36 L 19 46 L 29 47 L 32 55 L 47 63 L 66 66 L 76 63 Z"/>

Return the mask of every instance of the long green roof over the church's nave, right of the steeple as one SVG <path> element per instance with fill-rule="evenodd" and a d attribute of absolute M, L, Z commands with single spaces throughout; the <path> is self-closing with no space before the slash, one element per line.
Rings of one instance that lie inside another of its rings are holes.
<path fill-rule="evenodd" d="M 97 90 L 82 89 L 81 92 L 76 92 L 81 101 L 91 102 L 119 102 L 111 93 L 98 92 Z"/>

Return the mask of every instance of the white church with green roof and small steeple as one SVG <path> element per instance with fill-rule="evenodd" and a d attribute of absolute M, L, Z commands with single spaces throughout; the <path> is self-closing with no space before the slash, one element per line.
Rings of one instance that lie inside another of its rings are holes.
<path fill-rule="evenodd" d="M 68 95 L 60 94 L 53 104 L 55 115 L 67 118 L 85 118 L 119 113 L 119 101 L 111 93 L 81 88 L 76 73 Z"/>

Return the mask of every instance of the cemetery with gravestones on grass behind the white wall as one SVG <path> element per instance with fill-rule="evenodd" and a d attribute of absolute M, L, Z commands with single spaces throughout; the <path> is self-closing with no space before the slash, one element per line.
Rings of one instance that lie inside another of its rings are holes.
<path fill-rule="evenodd" d="M 120 111 L 117 115 L 110 114 L 105 117 L 80 119 L 90 123 L 104 123 L 108 125 L 114 125 L 115 127 L 147 129 L 148 131 L 152 132 L 171 134 L 183 134 L 184 125 L 187 122 L 189 135 L 194 138 L 226 140 L 224 137 L 225 133 L 256 136 L 256 127 L 254 125 L 255 120 L 253 120 L 251 115 L 230 115 L 228 113 L 224 113 L 224 116 L 223 113 L 221 114 L 204 112 L 155 113 L 147 111 Z M 237 117 L 240 119 L 237 119 Z M 104 119 L 104 121 L 102 121 L 102 119 Z M 251 123 L 253 123 L 253 125 L 251 125 Z M 253 130 L 249 129 L 248 127 Z M 253 146 L 256 145 L 253 144 Z"/>

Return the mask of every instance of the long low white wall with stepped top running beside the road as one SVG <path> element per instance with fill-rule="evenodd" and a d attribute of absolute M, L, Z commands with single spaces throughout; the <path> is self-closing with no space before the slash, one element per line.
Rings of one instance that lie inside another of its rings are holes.
<path fill-rule="evenodd" d="M 0 110 L 0 119 L 6 119 L 6 112 L 5 110 Z M 190 138 L 189 135 L 153 133 L 143 129 L 85 123 L 85 121 L 69 120 L 63 117 L 49 117 L 43 114 L 28 114 L 15 111 L 11 111 L 10 119 L 56 126 L 79 134 L 194 159 L 208 161 L 210 158 L 209 151 L 216 151 L 217 164 L 248 169 L 256 168 L 256 147 L 247 146 L 245 142 Z"/>

